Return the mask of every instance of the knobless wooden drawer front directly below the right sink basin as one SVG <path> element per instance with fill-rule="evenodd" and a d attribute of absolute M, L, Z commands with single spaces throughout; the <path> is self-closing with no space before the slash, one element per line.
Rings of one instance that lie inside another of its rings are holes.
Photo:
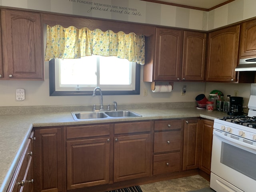
<path fill-rule="evenodd" d="M 150 132 L 150 122 L 116 123 L 114 134 Z"/>

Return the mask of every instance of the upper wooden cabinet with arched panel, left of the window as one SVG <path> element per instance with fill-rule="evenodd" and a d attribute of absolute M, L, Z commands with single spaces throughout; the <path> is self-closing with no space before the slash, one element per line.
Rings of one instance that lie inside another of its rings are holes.
<path fill-rule="evenodd" d="M 40 13 L 1 10 L 1 29 L 2 79 L 44 80 Z"/>

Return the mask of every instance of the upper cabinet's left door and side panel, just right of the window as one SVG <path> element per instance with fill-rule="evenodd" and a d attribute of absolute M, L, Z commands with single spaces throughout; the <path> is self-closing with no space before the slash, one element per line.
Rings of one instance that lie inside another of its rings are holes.
<path fill-rule="evenodd" d="M 181 78 L 183 31 L 156 28 L 146 39 L 144 81 L 178 81 Z"/>

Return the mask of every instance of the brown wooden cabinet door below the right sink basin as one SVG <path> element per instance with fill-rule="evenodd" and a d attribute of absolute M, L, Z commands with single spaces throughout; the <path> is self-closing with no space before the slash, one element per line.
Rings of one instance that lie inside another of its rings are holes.
<path fill-rule="evenodd" d="M 150 176 L 150 134 L 114 140 L 114 182 Z"/>

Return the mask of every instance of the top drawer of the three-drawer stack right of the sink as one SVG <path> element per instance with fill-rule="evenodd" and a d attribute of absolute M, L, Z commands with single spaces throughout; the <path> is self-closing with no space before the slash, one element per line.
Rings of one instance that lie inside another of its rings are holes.
<path fill-rule="evenodd" d="M 155 121 L 154 130 L 162 131 L 162 130 L 174 130 L 182 128 L 182 120 L 162 120 Z"/>

